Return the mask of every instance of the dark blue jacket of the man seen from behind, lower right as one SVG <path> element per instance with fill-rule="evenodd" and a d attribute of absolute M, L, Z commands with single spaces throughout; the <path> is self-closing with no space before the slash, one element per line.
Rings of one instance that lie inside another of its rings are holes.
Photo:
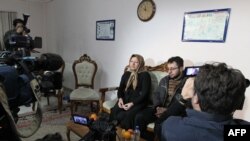
<path fill-rule="evenodd" d="M 162 125 L 161 141 L 223 141 L 224 125 L 250 124 L 232 116 L 186 109 L 187 117 L 171 116 Z"/>

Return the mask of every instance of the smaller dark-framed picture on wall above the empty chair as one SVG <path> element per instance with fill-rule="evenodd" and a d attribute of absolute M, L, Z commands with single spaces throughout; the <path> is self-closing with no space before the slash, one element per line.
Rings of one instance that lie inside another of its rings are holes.
<path fill-rule="evenodd" d="M 96 21 L 96 40 L 115 40 L 115 20 Z"/>

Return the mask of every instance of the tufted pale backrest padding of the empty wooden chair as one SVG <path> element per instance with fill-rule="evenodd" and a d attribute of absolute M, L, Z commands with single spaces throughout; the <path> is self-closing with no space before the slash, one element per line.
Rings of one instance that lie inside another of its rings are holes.
<path fill-rule="evenodd" d="M 92 63 L 83 61 L 82 63 L 76 64 L 76 74 L 78 84 L 91 85 L 92 78 L 94 75 L 95 66 Z"/>

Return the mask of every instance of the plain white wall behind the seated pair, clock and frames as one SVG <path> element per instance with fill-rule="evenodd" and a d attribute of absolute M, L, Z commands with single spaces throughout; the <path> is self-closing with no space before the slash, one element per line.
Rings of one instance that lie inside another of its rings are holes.
<path fill-rule="evenodd" d="M 149 22 L 137 18 L 141 0 L 53 0 L 27 3 L 25 0 L 0 0 L 0 10 L 28 11 L 32 32 L 45 34 L 43 52 L 55 52 L 66 61 L 64 85 L 74 87 L 71 64 L 83 53 L 97 61 L 95 87 L 117 86 L 128 58 L 142 54 L 147 65 L 157 65 L 179 55 L 186 64 L 220 61 L 240 69 L 250 78 L 247 56 L 250 52 L 250 13 L 247 0 L 154 0 L 156 14 Z M 184 12 L 231 8 L 225 43 L 182 42 Z M 44 17 L 44 18 L 42 18 Z M 95 22 L 116 20 L 115 41 L 97 41 Z M 237 117 L 250 121 L 250 90 L 243 111 Z"/>

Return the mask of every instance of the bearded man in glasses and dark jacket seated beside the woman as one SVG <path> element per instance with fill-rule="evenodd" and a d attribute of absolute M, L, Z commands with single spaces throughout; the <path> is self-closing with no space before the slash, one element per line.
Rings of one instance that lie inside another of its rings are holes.
<path fill-rule="evenodd" d="M 158 132 L 161 128 L 161 123 L 169 114 L 166 115 L 168 107 L 175 102 L 175 98 L 173 97 L 183 85 L 183 59 L 179 56 L 169 58 L 167 67 L 169 75 L 161 79 L 153 95 L 153 106 L 139 112 L 135 117 L 135 125 L 139 126 L 141 137 L 146 140 L 153 140 L 153 135 L 147 133 L 147 124 L 156 121 L 155 129 L 157 130 L 156 132 Z M 184 109 L 185 107 L 181 111 L 185 113 Z"/>

